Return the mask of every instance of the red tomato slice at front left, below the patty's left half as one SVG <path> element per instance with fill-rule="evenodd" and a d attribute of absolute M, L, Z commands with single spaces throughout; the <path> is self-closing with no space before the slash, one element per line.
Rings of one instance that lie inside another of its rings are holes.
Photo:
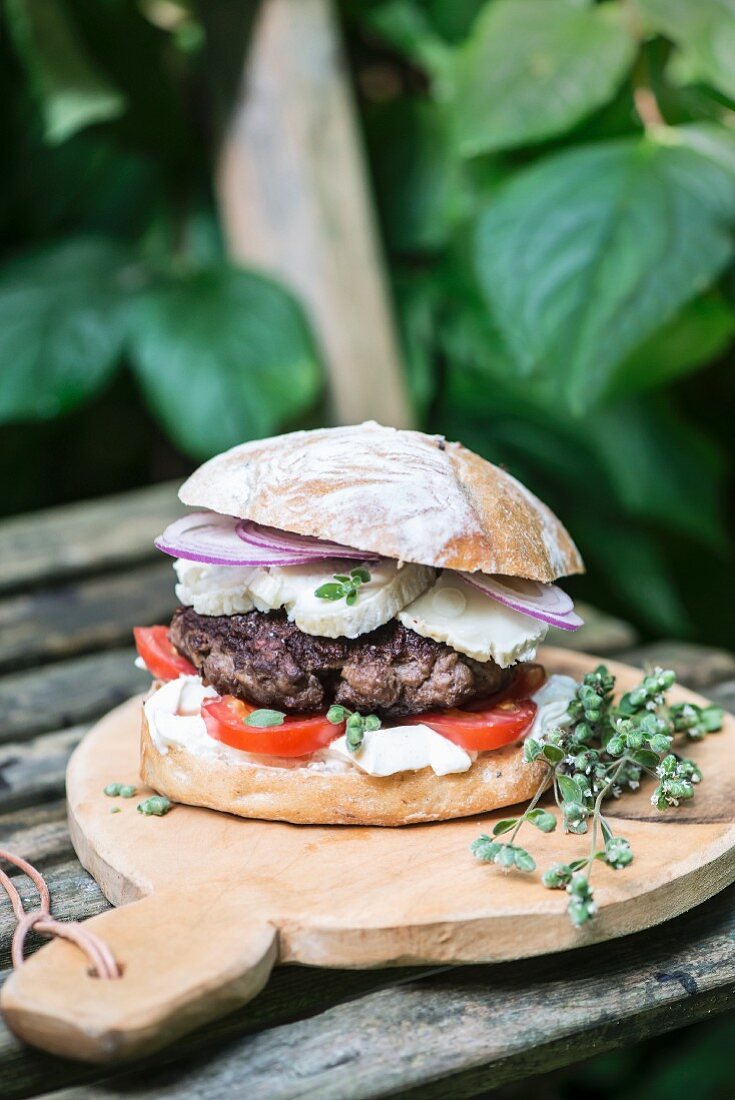
<path fill-rule="evenodd" d="M 309 756 L 344 733 L 344 723 L 328 722 L 326 715 L 287 715 L 281 726 L 246 726 L 245 718 L 259 707 L 234 695 L 207 700 L 201 706 L 207 733 L 233 749 L 262 756 Z"/>

